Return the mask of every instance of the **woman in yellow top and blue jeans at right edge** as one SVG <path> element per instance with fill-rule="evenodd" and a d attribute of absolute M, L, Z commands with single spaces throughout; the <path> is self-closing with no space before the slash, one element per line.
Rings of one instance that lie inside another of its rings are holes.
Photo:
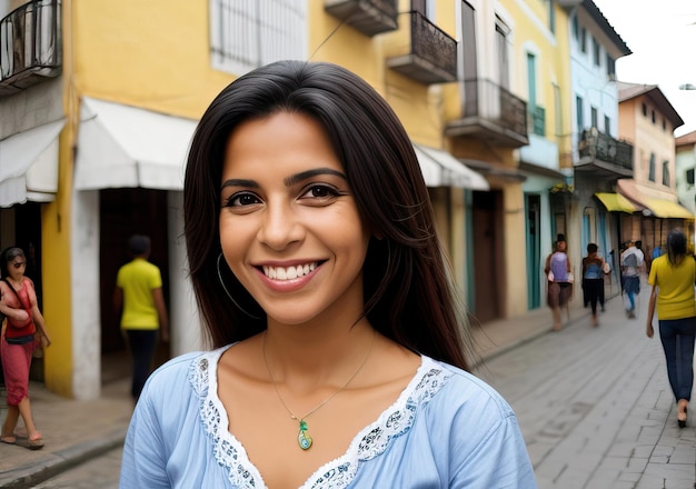
<path fill-rule="evenodd" d="M 647 336 L 653 338 L 653 316 L 657 305 L 659 338 L 665 349 L 667 377 L 677 400 L 677 422 L 686 426 L 686 408 L 694 383 L 694 339 L 696 337 L 696 261 L 686 255 L 686 234 L 674 230 L 667 237 L 667 252 L 653 260 L 648 283 Z"/>

